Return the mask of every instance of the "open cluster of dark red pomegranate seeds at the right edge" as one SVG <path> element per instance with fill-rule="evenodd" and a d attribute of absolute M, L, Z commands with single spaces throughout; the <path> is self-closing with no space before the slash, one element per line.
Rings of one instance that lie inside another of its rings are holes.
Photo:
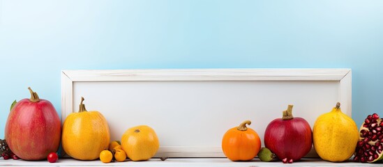
<path fill-rule="evenodd" d="M 356 145 L 354 161 L 371 162 L 378 159 L 383 152 L 383 118 L 377 113 L 368 115 L 361 127 L 361 139 Z"/>

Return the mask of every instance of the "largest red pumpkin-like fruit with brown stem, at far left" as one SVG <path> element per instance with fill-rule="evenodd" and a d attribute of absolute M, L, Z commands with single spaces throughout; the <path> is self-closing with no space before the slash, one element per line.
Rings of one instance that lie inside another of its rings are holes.
<path fill-rule="evenodd" d="M 57 152 L 61 138 L 61 122 L 51 102 L 39 99 L 28 88 L 31 99 L 17 102 L 6 122 L 5 138 L 8 147 L 24 160 L 47 159 Z"/>

